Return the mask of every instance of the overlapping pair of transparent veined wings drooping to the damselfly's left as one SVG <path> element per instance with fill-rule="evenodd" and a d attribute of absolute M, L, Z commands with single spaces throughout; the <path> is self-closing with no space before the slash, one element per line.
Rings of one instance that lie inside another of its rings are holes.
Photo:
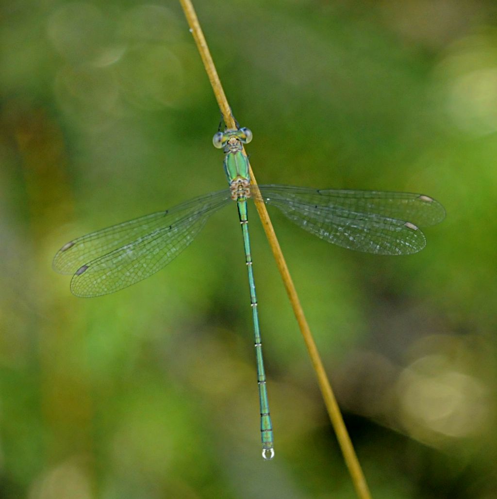
<path fill-rule="evenodd" d="M 73 273 L 76 296 L 99 296 L 157 272 L 195 238 L 206 220 L 230 201 L 228 189 L 145 215 L 65 244 L 53 268 Z"/>

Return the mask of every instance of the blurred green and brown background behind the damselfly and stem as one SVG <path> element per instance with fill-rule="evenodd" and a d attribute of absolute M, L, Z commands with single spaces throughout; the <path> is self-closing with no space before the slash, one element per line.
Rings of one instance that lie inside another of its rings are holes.
<path fill-rule="evenodd" d="M 259 182 L 444 204 L 405 257 L 272 215 L 373 497 L 496 498 L 496 3 L 196 3 Z M 354 498 L 253 207 L 271 462 L 234 207 L 113 295 L 51 270 L 226 185 L 179 4 L 14 0 L 1 23 L 0 497 Z"/>

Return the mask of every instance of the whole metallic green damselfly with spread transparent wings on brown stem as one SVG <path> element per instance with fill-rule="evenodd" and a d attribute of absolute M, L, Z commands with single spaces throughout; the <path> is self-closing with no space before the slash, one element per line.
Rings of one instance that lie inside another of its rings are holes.
<path fill-rule="evenodd" d="M 251 140 L 248 128 L 227 129 L 214 135 L 214 146 L 225 153 L 228 189 L 74 239 L 57 252 L 53 268 L 73 274 L 71 291 L 76 296 L 113 293 L 157 272 L 193 241 L 213 213 L 231 201 L 236 202 L 254 324 L 262 455 L 271 459 L 273 430 L 250 254 L 247 200 L 255 198 L 275 206 L 297 225 L 330 243 L 388 255 L 422 250 L 426 240 L 419 227 L 438 224 L 445 211 L 440 203 L 423 194 L 251 185 L 249 162 L 243 151 L 243 144 Z"/>

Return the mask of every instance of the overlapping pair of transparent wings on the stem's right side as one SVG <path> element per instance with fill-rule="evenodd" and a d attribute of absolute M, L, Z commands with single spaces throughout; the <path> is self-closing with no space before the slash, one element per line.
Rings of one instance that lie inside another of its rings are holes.
<path fill-rule="evenodd" d="M 426 245 L 418 226 L 438 224 L 445 217 L 440 203 L 421 194 L 279 185 L 252 191 L 315 236 L 367 253 L 416 253 Z"/>

